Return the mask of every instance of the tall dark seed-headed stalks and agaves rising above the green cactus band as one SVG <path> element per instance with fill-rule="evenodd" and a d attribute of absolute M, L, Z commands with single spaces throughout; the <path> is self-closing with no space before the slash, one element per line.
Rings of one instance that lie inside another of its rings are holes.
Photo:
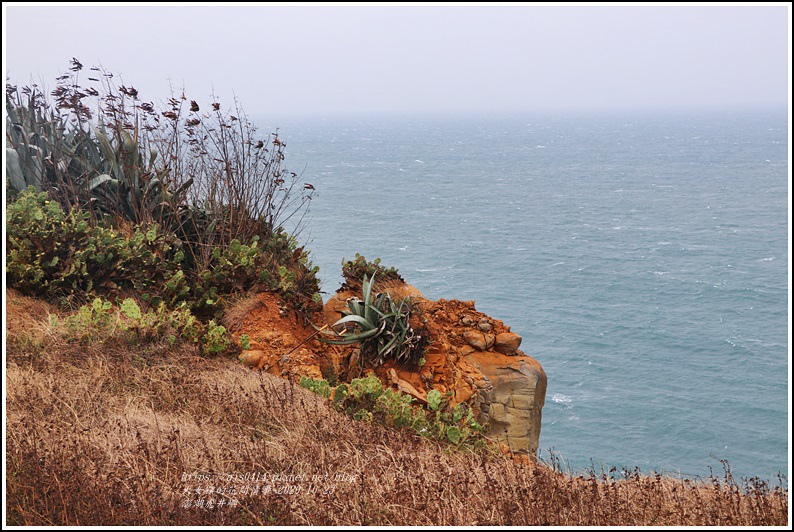
<path fill-rule="evenodd" d="M 158 108 L 103 68 L 82 87 L 82 70 L 72 59 L 49 95 L 6 85 L 9 190 L 30 185 L 66 210 L 158 223 L 190 244 L 199 271 L 235 238 L 267 239 L 288 221 L 300 230 L 314 186 L 285 168 L 278 133 L 262 137 L 237 102 L 202 111 L 182 94 Z"/>

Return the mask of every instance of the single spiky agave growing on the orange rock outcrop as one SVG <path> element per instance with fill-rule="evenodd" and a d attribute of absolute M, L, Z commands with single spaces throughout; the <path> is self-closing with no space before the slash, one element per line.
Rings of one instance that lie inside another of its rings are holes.
<path fill-rule="evenodd" d="M 389 359 L 402 363 L 416 362 L 422 336 L 409 323 L 413 309 L 410 298 L 395 301 L 388 293 L 373 298 L 374 281 L 375 274 L 369 280 L 364 277 L 363 299 L 350 298 L 347 303 L 350 311 L 333 324 L 334 329 L 345 325 L 346 329 L 351 327 L 353 330 L 344 333 L 321 331 L 323 336 L 319 339 L 336 345 L 360 343 L 361 359 L 373 366 Z"/>

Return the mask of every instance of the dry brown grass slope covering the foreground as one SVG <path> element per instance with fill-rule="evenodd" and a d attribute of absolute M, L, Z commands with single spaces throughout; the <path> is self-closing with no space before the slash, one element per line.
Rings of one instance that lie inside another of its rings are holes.
<path fill-rule="evenodd" d="M 54 310 L 7 298 L 9 525 L 788 523 L 780 486 L 587 478 L 451 452 L 190 346 L 69 345 Z M 226 502 L 207 509 L 210 499 Z"/>

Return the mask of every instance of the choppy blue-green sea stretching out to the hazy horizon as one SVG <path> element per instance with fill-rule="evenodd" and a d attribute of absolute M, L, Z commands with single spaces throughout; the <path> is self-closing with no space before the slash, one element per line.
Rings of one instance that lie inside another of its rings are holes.
<path fill-rule="evenodd" d="M 358 252 L 510 325 L 548 375 L 542 458 L 786 474 L 785 110 L 278 126 L 324 291 Z"/>

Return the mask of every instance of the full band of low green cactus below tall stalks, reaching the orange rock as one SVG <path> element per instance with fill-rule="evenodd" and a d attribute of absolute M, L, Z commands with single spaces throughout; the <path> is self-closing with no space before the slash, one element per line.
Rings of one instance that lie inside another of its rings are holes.
<path fill-rule="evenodd" d="M 6 214 L 7 281 L 24 294 L 69 303 L 134 291 L 154 307 L 188 302 L 205 319 L 219 316 L 230 295 L 249 290 L 277 290 L 298 310 L 318 307 L 317 268 L 284 233 L 264 245 L 254 238 L 215 248 L 211 269 L 188 276 L 181 243 L 157 225 L 106 227 L 76 208 L 64 212 L 32 187 L 7 205 Z M 268 268 L 280 275 L 264 276 Z"/>

